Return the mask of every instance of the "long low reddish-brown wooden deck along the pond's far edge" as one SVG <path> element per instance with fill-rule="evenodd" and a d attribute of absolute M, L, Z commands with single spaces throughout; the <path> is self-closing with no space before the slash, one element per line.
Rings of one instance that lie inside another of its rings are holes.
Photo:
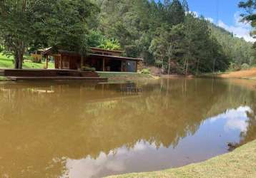
<path fill-rule="evenodd" d="M 107 81 L 99 74 L 91 71 L 60 69 L 0 69 L 0 76 L 11 80 L 95 80 Z"/>

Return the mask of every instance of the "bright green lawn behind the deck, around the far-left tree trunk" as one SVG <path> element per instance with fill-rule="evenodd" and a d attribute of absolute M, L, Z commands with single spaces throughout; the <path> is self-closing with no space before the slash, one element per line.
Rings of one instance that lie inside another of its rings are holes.
<path fill-rule="evenodd" d="M 14 68 L 13 56 L 7 57 L 0 53 L 0 68 Z M 44 68 L 46 63 L 32 63 L 24 61 L 23 68 Z M 54 68 L 54 63 L 49 63 L 49 68 Z"/>

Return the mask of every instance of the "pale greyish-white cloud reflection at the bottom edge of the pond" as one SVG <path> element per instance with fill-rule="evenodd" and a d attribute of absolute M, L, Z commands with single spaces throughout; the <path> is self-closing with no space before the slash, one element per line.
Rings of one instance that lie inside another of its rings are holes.
<path fill-rule="evenodd" d="M 140 141 L 134 145 L 132 150 L 121 147 L 106 155 L 101 152 L 97 159 L 86 157 L 84 159 L 67 159 L 66 172 L 61 177 L 97 177 L 102 172 L 124 172 L 127 168 L 126 162 L 131 157 L 136 157 L 137 152 L 144 150 L 157 150 L 157 146 L 149 142 Z"/>

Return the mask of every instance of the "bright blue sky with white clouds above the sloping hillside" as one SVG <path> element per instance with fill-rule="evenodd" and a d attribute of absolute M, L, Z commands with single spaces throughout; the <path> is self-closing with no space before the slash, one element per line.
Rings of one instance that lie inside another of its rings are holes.
<path fill-rule="evenodd" d="M 250 36 L 251 26 L 240 22 L 242 9 L 238 8 L 240 0 L 187 0 L 189 10 L 198 16 L 205 16 L 217 26 L 225 28 L 246 41 L 256 41 Z"/>

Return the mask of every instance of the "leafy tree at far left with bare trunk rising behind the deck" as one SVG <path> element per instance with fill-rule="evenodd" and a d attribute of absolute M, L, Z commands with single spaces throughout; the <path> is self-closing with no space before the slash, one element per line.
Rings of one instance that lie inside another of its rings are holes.
<path fill-rule="evenodd" d="M 14 67 L 22 68 L 23 55 L 33 33 L 33 1 L 0 1 L 0 36 L 4 52 L 14 56 Z"/>

